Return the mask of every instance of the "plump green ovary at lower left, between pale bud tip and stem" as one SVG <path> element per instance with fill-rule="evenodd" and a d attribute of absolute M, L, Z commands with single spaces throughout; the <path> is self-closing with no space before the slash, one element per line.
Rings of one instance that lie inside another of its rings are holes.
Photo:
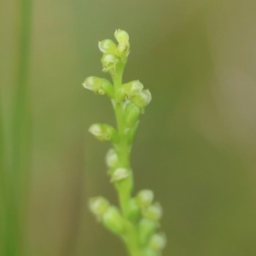
<path fill-rule="evenodd" d="M 109 207 L 102 217 L 102 222 L 114 234 L 121 235 L 125 231 L 125 221 L 117 207 Z"/>

